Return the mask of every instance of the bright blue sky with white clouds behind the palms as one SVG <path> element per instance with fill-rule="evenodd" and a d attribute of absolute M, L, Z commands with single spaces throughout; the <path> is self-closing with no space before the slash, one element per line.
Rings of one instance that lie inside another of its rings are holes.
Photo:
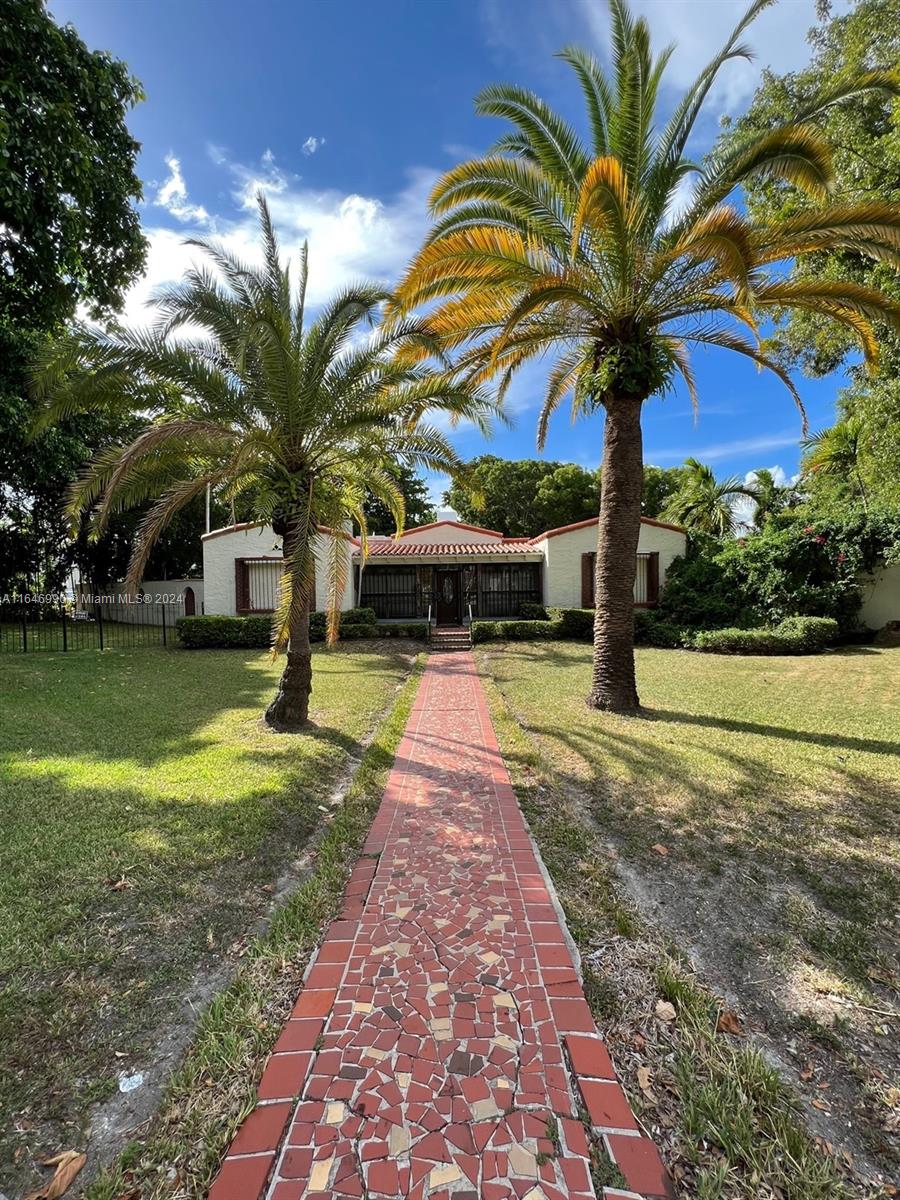
<path fill-rule="evenodd" d="M 636 0 L 656 44 L 678 42 L 665 104 L 719 48 L 745 0 Z M 814 0 L 780 0 L 752 28 L 754 64 L 734 64 L 713 96 L 694 151 L 722 113 L 749 102 L 763 66 L 802 66 Z M 52 0 L 91 48 L 125 59 L 146 101 L 130 124 L 142 142 L 146 277 L 127 298 L 142 319 L 157 284 L 190 259 L 184 239 L 215 234 L 252 252 L 252 196 L 269 194 L 282 244 L 310 241 L 311 298 L 360 276 L 396 280 L 427 228 L 434 178 L 486 149 L 499 122 L 473 97 L 497 80 L 539 91 L 581 124 L 580 94 L 553 58 L 568 42 L 606 53 L 605 0 Z M 719 474 L 797 469 L 799 418 L 784 386 L 720 350 L 698 353 L 701 413 L 679 391 L 648 403 L 647 462 L 686 455 Z M 485 444 L 456 434 L 468 456 L 534 456 L 542 371 L 510 391 L 512 431 Z M 829 424 L 840 378 L 797 378 L 814 428 Z M 560 413 L 546 456 L 595 467 L 601 419 L 572 427 Z M 436 493 L 442 482 L 433 481 Z"/>

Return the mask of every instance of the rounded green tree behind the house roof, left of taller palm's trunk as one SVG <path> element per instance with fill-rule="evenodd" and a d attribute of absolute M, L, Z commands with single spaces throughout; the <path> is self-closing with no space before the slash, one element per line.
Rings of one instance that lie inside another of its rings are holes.
<path fill-rule="evenodd" d="M 508 538 L 530 538 L 596 516 L 599 475 L 583 467 L 481 455 L 472 460 L 469 470 L 478 484 L 475 496 L 466 484 L 454 484 L 444 493 L 444 504 L 468 524 L 486 526 Z"/>

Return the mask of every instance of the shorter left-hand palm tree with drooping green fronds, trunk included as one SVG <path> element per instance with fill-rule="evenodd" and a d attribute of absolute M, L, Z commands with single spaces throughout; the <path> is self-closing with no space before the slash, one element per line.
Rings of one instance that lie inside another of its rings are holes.
<path fill-rule="evenodd" d="M 366 336 L 388 299 L 377 287 L 347 288 L 307 323 L 306 247 L 292 288 L 262 196 L 259 221 L 262 266 L 215 242 L 192 242 L 206 265 L 160 293 L 150 330 L 77 328 L 36 365 L 34 388 L 43 401 L 38 432 L 86 408 L 146 415 L 143 432 L 103 451 L 68 497 L 73 521 L 92 510 L 96 535 L 112 514 L 154 502 L 138 528 L 128 589 L 172 517 L 208 487 L 272 524 L 284 554 L 272 649 L 287 650 L 287 665 L 265 715 L 287 731 L 308 715 L 317 526 L 340 532 L 355 520 L 365 553 L 367 496 L 403 523 L 391 467 L 461 468 L 425 413 L 487 431 L 496 404 L 458 374 L 428 368 L 437 347 L 421 322 Z M 421 362 L 400 362 L 398 352 L 412 349 Z M 348 558 L 340 536 L 331 545 L 329 641 L 337 636 Z"/>

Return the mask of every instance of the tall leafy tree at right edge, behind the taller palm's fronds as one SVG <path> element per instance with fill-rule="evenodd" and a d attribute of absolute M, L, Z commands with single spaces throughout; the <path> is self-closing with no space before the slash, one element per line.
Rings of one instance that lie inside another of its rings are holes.
<path fill-rule="evenodd" d="M 809 66 L 782 76 L 766 72 L 748 113 L 724 134 L 720 152 L 749 133 L 790 120 L 814 100 L 823 79 L 894 67 L 900 61 L 900 0 L 858 0 L 839 16 L 826 2 L 820 13 Z M 832 146 L 835 202 L 900 203 L 900 127 L 889 94 L 860 92 L 812 120 Z M 748 205 L 757 220 L 797 220 L 809 200 L 790 180 L 761 179 L 750 185 Z M 798 259 L 791 277 L 798 282 L 847 278 L 900 298 L 900 281 L 890 264 L 853 246 L 823 246 Z M 878 367 L 865 371 L 851 356 L 850 330 L 822 313 L 793 310 L 782 314 L 772 348 L 784 365 L 799 366 L 811 376 L 847 366 L 851 382 L 839 394 L 838 409 L 841 421 L 858 422 L 856 478 L 874 503 L 900 506 L 900 336 L 882 325 L 878 342 Z M 854 488 L 835 487 L 834 476 L 817 473 L 808 484 L 814 508 L 852 503 Z"/>

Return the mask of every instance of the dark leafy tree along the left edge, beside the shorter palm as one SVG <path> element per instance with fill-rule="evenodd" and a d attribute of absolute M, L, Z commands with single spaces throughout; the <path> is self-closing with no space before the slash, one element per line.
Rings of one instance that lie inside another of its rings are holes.
<path fill-rule="evenodd" d="M 114 310 L 144 264 L 133 202 L 142 98 L 125 64 L 91 53 L 38 0 L 0 0 L 0 583 L 50 590 L 77 544 L 60 498 L 85 457 L 128 430 L 73 416 L 28 446 L 28 364 L 78 304 Z"/>

